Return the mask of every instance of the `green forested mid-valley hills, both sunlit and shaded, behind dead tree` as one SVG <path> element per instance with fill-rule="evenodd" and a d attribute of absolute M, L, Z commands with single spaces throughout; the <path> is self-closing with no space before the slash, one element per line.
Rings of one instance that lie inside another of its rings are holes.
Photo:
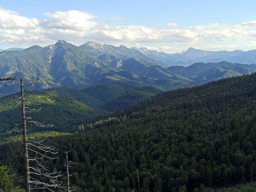
<path fill-rule="evenodd" d="M 35 94 L 28 93 L 28 99 L 33 99 L 34 103 L 40 105 L 33 106 L 29 102 L 27 105 L 41 110 L 39 113 L 28 114 L 29 117 L 44 124 L 54 124 L 50 130 L 73 132 L 79 130 L 79 125 L 91 123 L 98 116 L 108 116 L 111 112 L 125 109 L 162 91 L 154 87 L 137 88 L 115 82 L 81 90 L 59 87 L 34 92 Z M 19 95 L 17 93 L 17 97 Z M 14 97 L 15 95 L 0 97 L 0 134 L 12 129 L 22 120 L 20 105 L 16 106 L 19 100 Z M 33 128 L 30 131 L 41 129 Z"/>

